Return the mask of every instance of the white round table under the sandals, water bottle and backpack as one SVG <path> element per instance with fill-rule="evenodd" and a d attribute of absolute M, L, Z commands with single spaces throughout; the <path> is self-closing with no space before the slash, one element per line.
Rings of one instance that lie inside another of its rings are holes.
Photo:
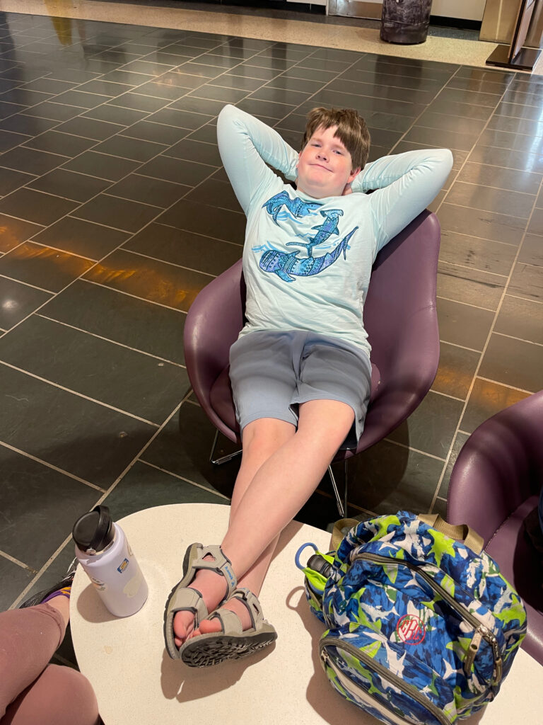
<path fill-rule="evenodd" d="M 210 668 L 189 668 L 164 648 L 164 602 L 182 575 L 189 544 L 219 543 L 229 507 L 178 504 L 138 511 L 122 529 L 146 577 L 149 597 L 127 618 L 109 614 L 78 567 L 70 600 L 72 639 L 80 670 L 96 692 L 106 725 L 375 725 L 337 695 L 318 658 L 324 625 L 308 608 L 303 573 L 294 563 L 301 544 L 329 549 L 330 534 L 292 522 L 271 562 L 261 602 L 277 629 L 274 645 L 258 655 Z M 307 550 L 303 563 L 311 555 Z M 543 721 L 542 668 L 522 651 L 496 703 L 466 725 Z"/>

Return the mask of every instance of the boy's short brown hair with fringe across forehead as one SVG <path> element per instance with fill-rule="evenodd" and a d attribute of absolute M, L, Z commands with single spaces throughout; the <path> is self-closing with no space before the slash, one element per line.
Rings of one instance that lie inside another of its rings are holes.
<path fill-rule="evenodd" d="M 306 132 L 303 134 L 302 149 L 306 148 L 309 139 L 317 128 L 337 126 L 334 136 L 340 139 L 353 159 L 353 169 L 366 165 L 369 156 L 370 136 L 366 121 L 352 108 L 313 108 L 308 113 Z"/>

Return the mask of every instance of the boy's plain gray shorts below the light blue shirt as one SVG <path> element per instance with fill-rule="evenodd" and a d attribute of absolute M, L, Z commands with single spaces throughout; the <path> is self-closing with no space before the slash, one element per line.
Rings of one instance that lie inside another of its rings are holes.
<path fill-rule="evenodd" d="M 342 448 L 360 438 L 371 391 L 371 364 L 355 345 L 313 332 L 263 331 L 241 336 L 230 348 L 230 381 L 237 422 L 277 418 L 298 426 L 298 405 L 339 400 L 355 421 Z"/>

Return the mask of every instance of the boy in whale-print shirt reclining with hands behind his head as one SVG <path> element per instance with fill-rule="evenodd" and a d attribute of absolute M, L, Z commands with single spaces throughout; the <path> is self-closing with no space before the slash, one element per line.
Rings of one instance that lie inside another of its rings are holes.
<path fill-rule="evenodd" d="M 256 652 L 277 637 L 256 595 L 279 534 L 337 449 L 355 446 L 363 430 L 371 266 L 452 166 L 447 149 L 366 166 L 366 123 L 345 109 L 313 109 L 300 154 L 232 106 L 219 114 L 217 136 L 247 216 L 247 322 L 230 350 L 243 457 L 221 547 L 189 547 L 167 602 L 167 650 L 190 666 Z"/>

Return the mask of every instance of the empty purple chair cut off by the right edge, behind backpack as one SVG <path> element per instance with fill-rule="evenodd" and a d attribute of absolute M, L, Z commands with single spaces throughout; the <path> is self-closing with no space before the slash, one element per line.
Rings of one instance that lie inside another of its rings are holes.
<path fill-rule="evenodd" d="M 452 469 L 450 523 L 467 523 L 521 595 L 528 613 L 523 649 L 543 664 L 543 563 L 526 534 L 543 485 L 543 391 L 479 426 Z"/>

